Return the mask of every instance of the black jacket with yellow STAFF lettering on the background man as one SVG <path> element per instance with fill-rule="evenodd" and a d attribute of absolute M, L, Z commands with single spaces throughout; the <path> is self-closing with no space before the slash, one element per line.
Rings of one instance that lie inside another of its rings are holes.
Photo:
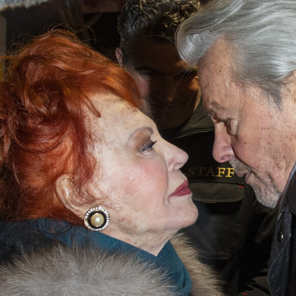
<path fill-rule="evenodd" d="M 201 250 L 203 262 L 218 271 L 229 295 L 246 290 L 268 294 L 267 262 L 277 211 L 257 202 L 229 162 L 214 160 L 214 125 L 202 101 L 183 126 L 160 133 L 189 155 L 181 170 L 199 217 L 185 232 Z"/>

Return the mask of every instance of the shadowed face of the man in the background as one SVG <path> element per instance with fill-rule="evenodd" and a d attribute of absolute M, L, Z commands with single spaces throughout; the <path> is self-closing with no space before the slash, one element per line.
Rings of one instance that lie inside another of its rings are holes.
<path fill-rule="evenodd" d="M 137 38 L 125 66 L 160 129 L 179 127 L 191 116 L 199 101 L 197 69 L 181 61 L 174 44 Z"/>

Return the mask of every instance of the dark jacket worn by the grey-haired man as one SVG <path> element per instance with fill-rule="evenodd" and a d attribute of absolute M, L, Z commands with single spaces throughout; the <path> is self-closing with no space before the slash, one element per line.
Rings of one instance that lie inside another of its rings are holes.
<path fill-rule="evenodd" d="M 296 295 L 296 165 L 286 185 L 269 259 L 272 296 Z"/>

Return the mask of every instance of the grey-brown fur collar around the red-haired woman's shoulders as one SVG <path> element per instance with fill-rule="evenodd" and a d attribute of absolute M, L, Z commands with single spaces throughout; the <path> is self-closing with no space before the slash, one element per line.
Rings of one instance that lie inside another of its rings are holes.
<path fill-rule="evenodd" d="M 171 242 L 192 277 L 193 295 L 221 295 L 210 270 L 182 235 Z M 163 272 L 134 255 L 57 245 L 15 258 L 0 269 L 0 295 L 177 296 Z"/>

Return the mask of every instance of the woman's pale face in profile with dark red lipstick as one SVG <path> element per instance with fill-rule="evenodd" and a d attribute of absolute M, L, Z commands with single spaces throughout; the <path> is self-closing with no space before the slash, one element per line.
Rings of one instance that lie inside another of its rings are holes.
<path fill-rule="evenodd" d="M 161 250 L 198 215 L 180 171 L 188 156 L 162 139 L 154 122 L 121 98 L 99 94 L 92 101 L 101 117 L 87 111 L 97 162 L 89 189 L 97 196 L 93 206 L 109 212 L 104 233 L 157 253 L 150 249 Z"/>

